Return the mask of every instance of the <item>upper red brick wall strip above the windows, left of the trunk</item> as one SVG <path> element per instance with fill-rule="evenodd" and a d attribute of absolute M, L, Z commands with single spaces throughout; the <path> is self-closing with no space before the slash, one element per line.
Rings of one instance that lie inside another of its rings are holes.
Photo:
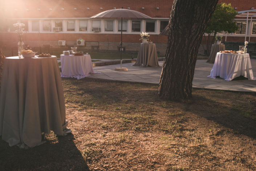
<path fill-rule="evenodd" d="M 130 7 L 150 17 L 168 18 L 173 0 L 1 0 L 0 10 L 7 18 L 77 18 Z M 87 7 L 90 9 L 88 10 Z M 102 7 L 103 9 L 99 9 Z M 142 9 L 144 7 L 144 9 Z M 159 7 L 159 9 L 157 9 Z M 38 11 L 37 9 L 41 9 Z M 49 10 L 52 8 L 52 11 Z M 61 10 L 64 8 L 64 10 Z M 77 8 L 77 10 L 74 10 Z M 5 11 L 5 9 L 7 9 Z M 15 11 L 17 9 L 17 11 Z M 29 11 L 26 11 L 29 9 Z"/>

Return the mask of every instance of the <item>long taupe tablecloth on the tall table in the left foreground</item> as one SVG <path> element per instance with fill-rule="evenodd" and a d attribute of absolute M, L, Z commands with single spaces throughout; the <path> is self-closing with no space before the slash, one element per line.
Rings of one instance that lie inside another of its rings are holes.
<path fill-rule="evenodd" d="M 0 135 L 10 146 L 41 144 L 41 133 L 64 135 L 65 101 L 57 58 L 7 57 L 0 94 Z"/>

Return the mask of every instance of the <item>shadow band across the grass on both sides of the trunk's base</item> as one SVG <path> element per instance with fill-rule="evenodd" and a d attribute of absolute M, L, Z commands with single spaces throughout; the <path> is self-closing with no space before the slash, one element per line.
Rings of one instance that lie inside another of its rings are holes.
<path fill-rule="evenodd" d="M 161 104 L 162 102 L 162 100 L 157 97 L 157 91 L 155 89 L 150 89 L 151 86 L 149 85 L 143 87 L 138 83 L 115 82 L 109 80 L 100 81 L 89 78 L 84 78 L 78 81 L 73 81 L 74 79 L 72 80 L 70 78 L 65 78 L 63 80 L 66 84 L 64 92 L 66 94 L 73 93 L 72 98 L 77 96 L 79 99 L 77 102 L 76 100 L 70 100 L 70 98 L 69 102 L 76 103 L 77 105 L 80 105 L 81 108 L 83 108 L 81 105 L 83 103 L 86 104 L 86 107 L 90 105 L 86 103 L 87 101 L 80 103 L 82 98 L 85 98 L 98 106 L 106 104 L 118 106 L 121 105 L 121 103 L 149 105 L 150 102 L 156 102 L 159 105 L 159 103 Z M 83 96 L 85 94 L 86 96 Z M 189 111 L 190 113 L 225 126 L 227 129 L 232 129 L 237 134 L 244 134 L 256 139 L 255 110 L 253 110 L 252 104 L 249 107 L 247 102 L 239 104 L 241 100 L 235 101 L 235 99 L 233 99 L 234 97 L 240 98 L 240 96 L 243 96 L 243 93 L 234 94 L 228 91 L 222 93 L 222 91 L 219 90 L 200 90 L 200 93 L 193 94 L 193 99 L 189 102 L 173 103 L 177 105 L 177 110 Z M 106 97 L 106 99 L 105 101 L 102 101 L 104 97 Z M 246 98 L 246 96 L 244 98 Z M 124 99 L 127 100 L 125 101 Z M 227 105 L 227 101 L 229 101 L 230 104 Z M 166 102 L 172 104 L 172 102 Z M 248 110 L 246 107 L 248 107 Z M 248 113 L 250 113 L 251 116 L 248 116 Z M 252 119 L 253 116 L 255 119 Z"/>

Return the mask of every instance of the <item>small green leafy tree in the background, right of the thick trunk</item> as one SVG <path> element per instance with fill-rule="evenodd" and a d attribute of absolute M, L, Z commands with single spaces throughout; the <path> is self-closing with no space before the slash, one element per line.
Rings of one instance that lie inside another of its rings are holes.
<path fill-rule="evenodd" d="M 234 33 L 238 27 L 236 25 L 235 16 L 237 15 L 236 10 L 231 4 L 218 4 L 214 11 L 214 14 L 209 21 L 206 30 L 204 31 L 204 40 L 206 42 L 207 56 L 210 56 L 211 46 L 214 44 L 215 36 L 218 32 Z"/>

